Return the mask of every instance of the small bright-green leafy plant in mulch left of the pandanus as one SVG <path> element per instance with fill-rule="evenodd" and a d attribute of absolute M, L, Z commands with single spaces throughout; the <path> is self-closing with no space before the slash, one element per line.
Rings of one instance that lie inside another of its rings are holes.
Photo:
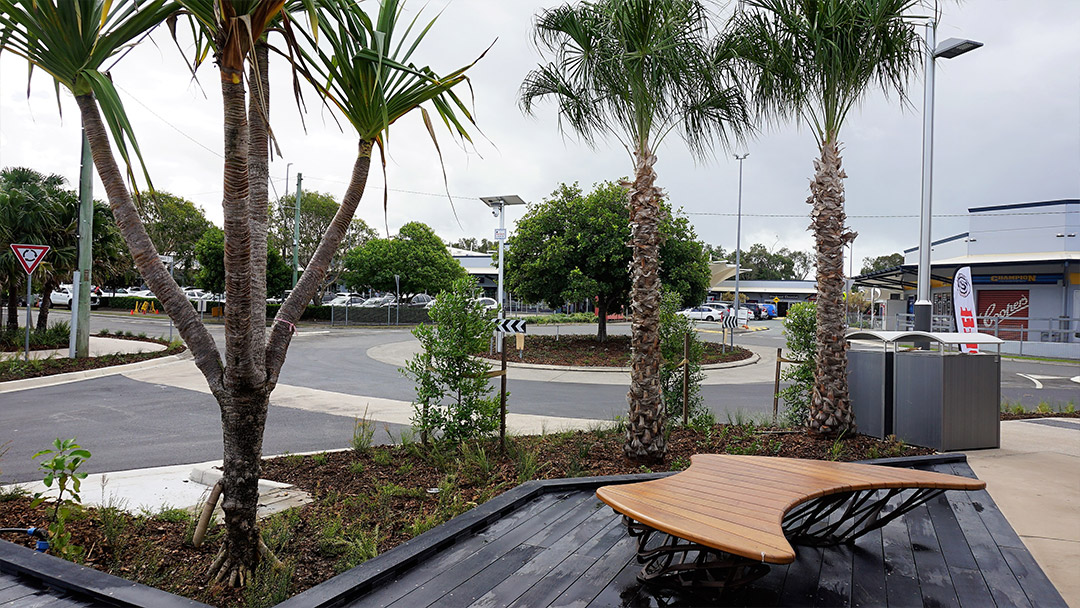
<path fill-rule="evenodd" d="M 82 554 L 82 548 L 71 544 L 71 533 L 67 531 L 65 523 L 72 511 L 82 504 L 79 490 L 82 481 L 86 478 L 86 473 L 79 471 L 79 468 L 90 458 L 90 450 L 77 444 L 75 437 L 70 440 L 57 437 L 53 442 L 53 449 L 43 449 L 35 454 L 32 459 L 38 460 L 43 456 L 51 458 L 38 462 L 38 468 L 44 472 L 42 483 L 50 489 L 56 484 L 56 499 L 52 522 L 49 524 L 49 541 L 57 555 L 68 559 L 77 558 Z M 36 494 L 31 506 L 44 502 L 44 495 L 45 492 Z"/>

